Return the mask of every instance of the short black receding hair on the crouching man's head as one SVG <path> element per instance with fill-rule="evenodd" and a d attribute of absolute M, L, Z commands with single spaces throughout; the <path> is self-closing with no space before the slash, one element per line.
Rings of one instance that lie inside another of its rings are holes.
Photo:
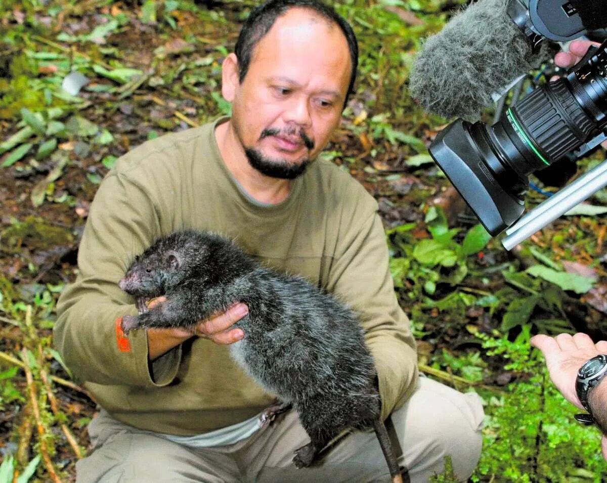
<path fill-rule="evenodd" d="M 249 62 L 251 55 L 257 43 L 270 31 L 276 19 L 287 12 L 289 8 L 301 7 L 308 8 L 324 17 L 330 22 L 337 24 L 345 35 L 348 42 L 348 50 L 350 50 L 350 60 L 352 63 L 352 73 L 350 75 L 350 85 L 344 100 L 344 107 L 348 101 L 348 97 L 354 88 L 354 80 L 356 80 L 356 67 L 358 66 L 358 44 L 356 35 L 344 18 L 339 16 L 337 12 L 328 5 L 325 5 L 317 0 L 270 0 L 253 9 L 251 14 L 245 21 L 238 40 L 234 53 L 238 58 L 239 81 L 242 83 L 246 72 L 249 70 Z"/>

